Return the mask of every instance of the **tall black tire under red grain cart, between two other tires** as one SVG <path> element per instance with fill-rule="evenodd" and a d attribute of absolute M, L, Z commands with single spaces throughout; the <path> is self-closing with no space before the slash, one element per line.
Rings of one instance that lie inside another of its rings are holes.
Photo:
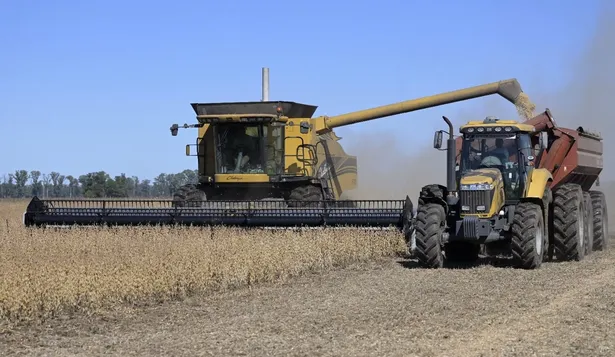
<path fill-rule="evenodd" d="M 585 204 L 577 184 L 564 184 L 553 192 L 553 245 L 559 261 L 585 257 Z"/>

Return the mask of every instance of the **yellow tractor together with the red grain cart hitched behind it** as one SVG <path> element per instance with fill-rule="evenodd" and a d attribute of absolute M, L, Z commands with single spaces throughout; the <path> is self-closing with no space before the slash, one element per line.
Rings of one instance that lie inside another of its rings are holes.
<path fill-rule="evenodd" d="M 527 120 L 487 117 L 449 126 L 446 186 L 423 187 L 414 229 L 424 267 L 508 256 L 535 269 L 544 260 L 581 260 L 608 240 L 607 206 L 592 190 L 602 138 L 558 127 L 549 109 Z M 442 146 L 443 131 L 434 135 Z"/>

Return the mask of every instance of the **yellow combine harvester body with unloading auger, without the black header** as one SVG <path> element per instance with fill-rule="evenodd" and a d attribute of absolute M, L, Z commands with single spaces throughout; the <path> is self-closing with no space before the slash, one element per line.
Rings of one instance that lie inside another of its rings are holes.
<path fill-rule="evenodd" d="M 512 79 L 315 118 L 316 106 L 296 102 L 193 103 L 198 123 L 182 127 L 198 128 L 186 154 L 196 147 L 199 183 L 182 187 L 175 205 L 279 199 L 290 207 L 313 207 L 315 201 L 339 201 L 357 186 L 357 158 L 344 152 L 333 129 L 495 93 L 515 103 L 521 88 Z M 179 128 L 174 124 L 172 135 Z"/>

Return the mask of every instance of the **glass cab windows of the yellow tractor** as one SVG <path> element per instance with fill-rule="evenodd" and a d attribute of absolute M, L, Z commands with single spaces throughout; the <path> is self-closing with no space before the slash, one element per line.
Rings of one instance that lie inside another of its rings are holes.
<path fill-rule="evenodd" d="M 521 172 L 525 171 L 520 152 L 521 135 L 467 135 L 464 137 L 461 157 L 461 174 L 482 168 L 495 168 L 502 173 L 506 198 L 518 199 L 521 191 Z M 521 160 L 520 160 L 521 159 Z"/>

